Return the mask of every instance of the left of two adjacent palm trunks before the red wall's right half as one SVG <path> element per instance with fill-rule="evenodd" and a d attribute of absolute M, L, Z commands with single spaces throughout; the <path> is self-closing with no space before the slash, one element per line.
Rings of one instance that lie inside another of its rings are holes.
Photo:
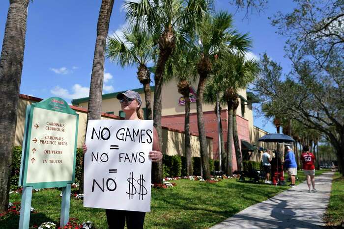
<path fill-rule="evenodd" d="M 227 109 L 228 109 L 228 132 L 227 132 L 227 163 L 226 163 L 226 171 L 227 176 L 231 176 L 233 173 L 233 166 L 232 166 L 232 145 L 233 145 L 233 102 L 231 100 L 227 101 Z"/>

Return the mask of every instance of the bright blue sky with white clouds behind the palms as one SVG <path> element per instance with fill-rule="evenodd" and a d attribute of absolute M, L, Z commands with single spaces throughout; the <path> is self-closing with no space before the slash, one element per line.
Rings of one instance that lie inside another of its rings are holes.
<path fill-rule="evenodd" d="M 96 26 L 101 0 L 34 0 L 29 4 L 24 67 L 20 92 L 39 98 L 59 96 L 71 99 L 87 97 L 92 71 Z M 123 0 L 115 0 L 109 33 L 125 26 Z M 8 0 L 0 1 L 0 42 L 2 45 Z M 290 62 L 284 58 L 285 38 L 276 34 L 268 20 L 277 11 L 290 12 L 292 1 L 270 1 L 264 12 L 236 12 L 228 0 L 216 0 L 215 10 L 235 13 L 234 25 L 242 33 L 249 32 L 254 46 L 253 56 L 267 52 L 285 72 Z M 136 68 L 122 69 L 109 60 L 105 62 L 104 93 L 139 88 Z M 254 124 L 276 132 L 264 117 L 255 117 Z"/>

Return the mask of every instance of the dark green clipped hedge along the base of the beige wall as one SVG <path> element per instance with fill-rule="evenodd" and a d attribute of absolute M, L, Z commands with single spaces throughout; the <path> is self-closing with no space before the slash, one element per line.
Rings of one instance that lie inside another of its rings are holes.
<path fill-rule="evenodd" d="M 22 156 L 22 147 L 16 146 L 13 148 L 12 154 L 12 165 L 11 165 L 11 174 L 10 174 L 10 189 L 18 189 L 19 173 L 20 173 L 20 163 Z M 83 150 L 77 149 L 76 165 L 75 165 L 75 182 L 80 183 L 81 173 L 82 173 L 82 159 L 83 159 Z M 192 157 L 193 163 L 193 175 L 201 176 L 201 157 Z M 258 163 L 253 161 L 244 161 L 244 168 L 248 166 L 248 163 Z M 255 168 L 259 165 L 254 164 Z M 210 171 L 218 171 L 219 161 L 209 159 Z M 164 155 L 163 157 L 163 176 L 164 177 L 180 177 L 186 176 L 186 157 L 179 155 Z"/>

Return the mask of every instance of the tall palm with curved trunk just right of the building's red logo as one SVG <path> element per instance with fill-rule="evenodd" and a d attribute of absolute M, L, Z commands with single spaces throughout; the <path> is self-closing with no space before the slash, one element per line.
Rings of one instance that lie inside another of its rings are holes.
<path fill-rule="evenodd" d="M 227 53 L 247 51 L 251 46 L 251 41 L 247 34 L 239 35 L 232 29 L 232 18 L 227 12 L 219 12 L 215 16 L 208 15 L 196 27 L 196 39 L 193 44 L 198 52 L 199 61 L 197 70 L 200 76 L 197 89 L 197 119 L 200 134 L 201 161 L 203 167 L 203 177 L 210 178 L 208 152 L 206 147 L 206 135 L 203 123 L 203 93 L 206 80 L 212 72 L 212 65 L 215 54 L 222 59 Z M 231 117 L 230 117 L 231 119 Z M 230 160 L 228 157 L 227 160 Z"/>

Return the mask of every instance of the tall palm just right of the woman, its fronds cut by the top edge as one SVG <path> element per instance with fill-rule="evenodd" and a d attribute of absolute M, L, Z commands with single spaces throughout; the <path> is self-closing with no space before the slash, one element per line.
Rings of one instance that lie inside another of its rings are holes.
<path fill-rule="evenodd" d="M 165 66 L 178 48 L 177 33 L 188 33 L 209 10 L 209 0 L 140 0 L 126 1 L 126 18 L 130 23 L 148 29 L 159 47 L 154 75 L 153 120 L 161 148 L 161 88 Z M 162 183 L 162 162 L 152 165 L 152 182 Z"/>

